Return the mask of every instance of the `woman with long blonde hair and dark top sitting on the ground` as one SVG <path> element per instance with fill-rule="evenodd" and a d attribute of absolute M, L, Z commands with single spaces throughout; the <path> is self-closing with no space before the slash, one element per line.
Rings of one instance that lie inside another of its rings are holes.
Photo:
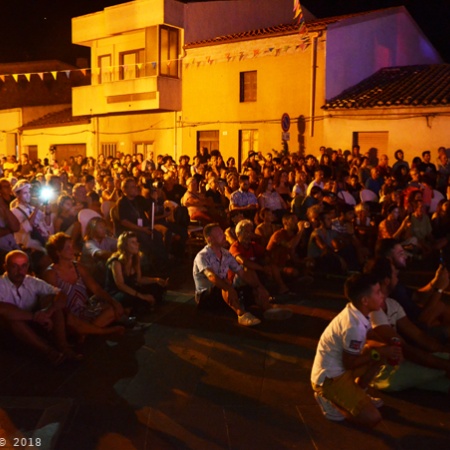
<path fill-rule="evenodd" d="M 106 263 L 106 290 L 122 305 L 145 312 L 162 300 L 168 279 L 143 276 L 141 259 L 136 234 L 125 231 L 117 241 L 117 252 Z"/>

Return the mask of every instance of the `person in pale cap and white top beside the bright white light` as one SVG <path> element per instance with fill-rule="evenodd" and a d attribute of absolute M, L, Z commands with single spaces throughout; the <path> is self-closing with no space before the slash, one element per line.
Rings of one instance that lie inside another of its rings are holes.
<path fill-rule="evenodd" d="M 24 249 L 45 251 L 44 244 L 51 234 L 52 218 L 49 205 L 31 205 L 31 185 L 26 180 L 19 180 L 13 188 L 17 204 L 12 213 L 20 223 L 15 233 L 16 242 Z"/>

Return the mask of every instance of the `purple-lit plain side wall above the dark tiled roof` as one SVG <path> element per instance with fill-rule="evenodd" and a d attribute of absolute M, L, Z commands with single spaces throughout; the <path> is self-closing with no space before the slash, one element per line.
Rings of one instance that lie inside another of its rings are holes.
<path fill-rule="evenodd" d="M 389 66 L 442 59 L 404 7 L 342 20 L 327 31 L 326 99 Z"/>

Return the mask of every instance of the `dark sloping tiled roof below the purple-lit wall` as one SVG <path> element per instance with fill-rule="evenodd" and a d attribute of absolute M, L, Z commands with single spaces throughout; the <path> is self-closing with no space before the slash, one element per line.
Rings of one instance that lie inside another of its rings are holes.
<path fill-rule="evenodd" d="M 449 106 L 450 64 L 385 67 L 328 100 L 323 109 Z"/>

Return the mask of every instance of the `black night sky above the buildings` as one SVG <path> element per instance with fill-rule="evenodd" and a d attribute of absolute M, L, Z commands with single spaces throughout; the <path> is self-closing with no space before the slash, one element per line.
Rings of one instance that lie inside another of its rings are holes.
<path fill-rule="evenodd" d="M 88 58 L 88 50 L 71 44 L 70 19 L 127 1 L 2 0 L 0 62 L 59 59 L 74 64 L 78 57 Z M 450 62 L 450 0 L 303 0 L 301 3 L 317 17 L 405 5 L 444 60 Z"/>

